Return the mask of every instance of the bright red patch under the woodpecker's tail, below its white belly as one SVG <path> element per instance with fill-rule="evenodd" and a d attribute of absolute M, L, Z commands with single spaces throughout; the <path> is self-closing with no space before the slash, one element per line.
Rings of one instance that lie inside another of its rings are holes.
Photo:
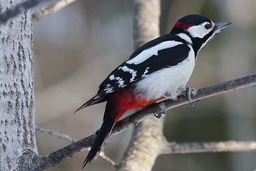
<path fill-rule="evenodd" d="M 141 98 L 140 95 L 136 95 L 135 93 L 133 93 L 133 90 L 125 89 L 118 90 L 117 92 L 113 93 L 109 100 L 110 101 L 108 102 L 111 103 L 111 106 L 113 108 L 111 115 L 117 122 L 128 110 L 135 108 L 144 108 L 160 100 L 160 98 L 146 100 L 145 98 Z"/>

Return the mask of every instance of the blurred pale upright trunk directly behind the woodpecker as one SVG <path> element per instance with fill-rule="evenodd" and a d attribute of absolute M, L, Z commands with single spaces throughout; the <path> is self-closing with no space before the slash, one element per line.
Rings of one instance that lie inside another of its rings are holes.
<path fill-rule="evenodd" d="M 133 15 L 134 48 L 160 36 L 160 1 L 135 0 Z M 147 118 L 133 130 L 126 155 L 118 170 L 152 170 L 156 157 L 165 140 L 162 133 L 163 120 Z"/>

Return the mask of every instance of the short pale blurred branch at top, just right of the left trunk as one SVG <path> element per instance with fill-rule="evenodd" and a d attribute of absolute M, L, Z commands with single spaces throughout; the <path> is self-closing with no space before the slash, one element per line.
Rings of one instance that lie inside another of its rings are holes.
<path fill-rule="evenodd" d="M 41 9 L 41 11 L 36 12 L 36 14 L 33 14 L 33 21 L 38 21 L 44 16 L 51 15 L 55 13 L 56 11 L 59 11 L 63 9 L 64 7 L 68 6 L 68 4 L 71 4 L 76 0 L 60 0 L 57 1 L 55 4 L 52 4 L 51 6 L 47 6 L 46 8 Z"/>

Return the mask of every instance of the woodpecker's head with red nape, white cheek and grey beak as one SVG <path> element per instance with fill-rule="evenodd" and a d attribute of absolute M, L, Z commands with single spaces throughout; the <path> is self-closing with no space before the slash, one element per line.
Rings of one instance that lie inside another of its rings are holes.
<path fill-rule="evenodd" d="M 228 22 L 213 23 L 205 16 L 193 14 L 179 19 L 170 33 L 177 34 L 191 43 L 196 51 L 200 51 L 215 33 L 219 33 L 222 28 L 230 24 Z"/>

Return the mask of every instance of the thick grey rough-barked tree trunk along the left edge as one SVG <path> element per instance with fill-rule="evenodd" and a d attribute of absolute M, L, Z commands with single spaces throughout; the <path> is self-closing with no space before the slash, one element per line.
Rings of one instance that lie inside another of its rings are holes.
<path fill-rule="evenodd" d="M 0 13 L 22 0 L 0 0 Z M 0 26 L 1 170 L 21 170 L 21 155 L 37 154 L 31 10 Z"/>

